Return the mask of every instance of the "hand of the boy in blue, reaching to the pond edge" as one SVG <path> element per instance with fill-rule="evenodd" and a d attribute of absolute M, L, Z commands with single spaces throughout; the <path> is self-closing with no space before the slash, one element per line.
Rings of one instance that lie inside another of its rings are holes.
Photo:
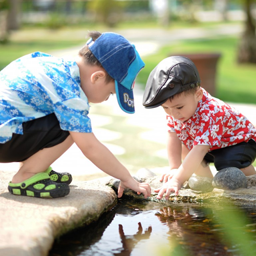
<path fill-rule="evenodd" d="M 141 193 L 144 195 L 144 198 L 148 198 L 151 195 L 151 187 L 147 183 L 139 183 L 136 181 L 133 177 L 127 181 L 120 181 L 119 187 L 118 187 L 118 198 L 120 198 L 123 195 L 123 190 L 125 188 L 130 188 L 137 192 L 138 195 Z"/>

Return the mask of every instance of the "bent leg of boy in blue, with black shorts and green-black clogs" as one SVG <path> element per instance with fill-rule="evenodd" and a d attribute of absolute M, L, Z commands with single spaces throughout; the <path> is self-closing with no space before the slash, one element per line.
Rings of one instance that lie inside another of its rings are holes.
<path fill-rule="evenodd" d="M 49 166 L 72 144 L 72 137 L 60 129 L 54 114 L 23 123 L 23 135 L 13 134 L 10 141 L 0 145 L 1 162 L 22 162 L 9 182 L 9 192 L 39 198 L 68 195 L 71 175 L 56 173 Z"/>

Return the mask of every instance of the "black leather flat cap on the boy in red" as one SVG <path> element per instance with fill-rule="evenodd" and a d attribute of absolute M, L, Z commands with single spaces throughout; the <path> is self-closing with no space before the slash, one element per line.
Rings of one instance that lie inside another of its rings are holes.
<path fill-rule="evenodd" d="M 143 95 L 143 106 L 153 109 L 169 97 L 200 86 L 200 77 L 194 62 L 184 56 L 163 59 L 150 73 Z"/>

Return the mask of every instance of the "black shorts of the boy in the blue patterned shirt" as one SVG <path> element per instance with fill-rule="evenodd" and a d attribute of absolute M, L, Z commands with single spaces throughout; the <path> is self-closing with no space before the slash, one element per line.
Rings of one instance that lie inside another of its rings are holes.
<path fill-rule="evenodd" d="M 55 114 L 23 123 L 23 135 L 13 134 L 12 139 L 0 143 L 0 162 L 22 162 L 45 147 L 55 146 L 69 136 L 60 129 Z"/>

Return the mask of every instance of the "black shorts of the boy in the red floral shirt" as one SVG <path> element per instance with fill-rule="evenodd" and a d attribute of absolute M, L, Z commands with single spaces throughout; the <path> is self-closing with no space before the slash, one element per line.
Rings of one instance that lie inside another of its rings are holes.
<path fill-rule="evenodd" d="M 208 152 L 204 160 L 214 163 L 217 170 L 226 167 L 237 167 L 239 169 L 248 167 L 256 158 L 256 142 L 249 140 L 233 146 L 220 148 Z"/>

